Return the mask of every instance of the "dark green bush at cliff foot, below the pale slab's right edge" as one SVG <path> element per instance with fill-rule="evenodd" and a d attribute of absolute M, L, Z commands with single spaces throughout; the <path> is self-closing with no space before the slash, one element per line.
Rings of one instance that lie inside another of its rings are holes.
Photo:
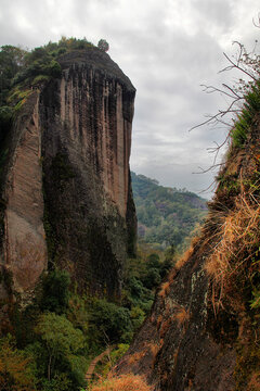
<path fill-rule="evenodd" d="M 65 270 L 53 270 L 42 278 L 40 310 L 63 314 L 68 307 L 70 278 Z"/>

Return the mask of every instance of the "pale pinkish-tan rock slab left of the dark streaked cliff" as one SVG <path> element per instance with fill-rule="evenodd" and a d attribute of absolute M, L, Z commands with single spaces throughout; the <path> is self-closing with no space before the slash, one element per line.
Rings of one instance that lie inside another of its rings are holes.
<path fill-rule="evenodd" d="M 47 267 L 38 102 L 39 93 L 31 93 L 5 146 L 9 163 L 3 193 L 2 282 L 4 276 L 13 276 L 17 292 L 31 290 Z"/>

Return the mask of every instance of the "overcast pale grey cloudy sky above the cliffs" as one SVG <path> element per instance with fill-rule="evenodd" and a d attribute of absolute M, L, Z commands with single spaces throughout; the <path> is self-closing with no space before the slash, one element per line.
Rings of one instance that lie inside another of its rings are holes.
<path fill-rule="evenodd" d="M 218 74 L 234 40 L 259 38 L 259 0 L 0 0 L 0 45 L 35 48 L 61 36 L 108 41 L 108 54 L 136 88 L 131 169 L 199 192 L 216 172 L 207 149 L 226 129 L 188 129 L 226 102 L 203 92 L 235 76 Z M 210 197 L 209 192 L 202 194 Z"/>

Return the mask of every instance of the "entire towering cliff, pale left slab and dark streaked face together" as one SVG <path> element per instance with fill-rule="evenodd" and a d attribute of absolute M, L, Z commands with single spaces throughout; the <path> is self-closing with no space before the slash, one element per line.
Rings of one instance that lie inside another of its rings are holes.
<path fill-rule="evenodd" d="M 96 48 L 60 63 L 62 78 L 31 91 L 12 130 L 1 263 L 16 290 L 32 288 L 49 262 L 80 290 L 117 295 L 135 241 L 135 90 Z"/>

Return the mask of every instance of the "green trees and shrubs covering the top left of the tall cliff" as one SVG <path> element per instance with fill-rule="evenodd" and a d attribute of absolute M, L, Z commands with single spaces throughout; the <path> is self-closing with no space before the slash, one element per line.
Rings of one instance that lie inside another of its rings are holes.
<path fill-rule="evenodd" d="M 73 50 L 92 48 L 86 38 L 66 38 L 26 51 L 5 45 L 0 50 L 0 143 L 12 125 L 13 116 L 23 108 L 31 86 L 62 77 L 58 58 Z"/>

